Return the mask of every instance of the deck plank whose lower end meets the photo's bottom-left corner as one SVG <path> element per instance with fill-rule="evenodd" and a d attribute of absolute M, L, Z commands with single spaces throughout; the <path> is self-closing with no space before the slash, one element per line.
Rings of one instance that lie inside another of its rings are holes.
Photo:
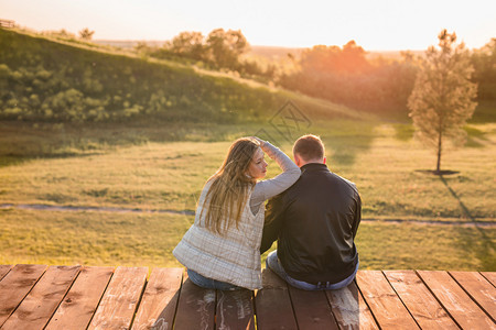
<path fill-rule="evenodd" d="M 51 266 L 2 329 L 43 329 L 61 304 L 80 266 Z"/>

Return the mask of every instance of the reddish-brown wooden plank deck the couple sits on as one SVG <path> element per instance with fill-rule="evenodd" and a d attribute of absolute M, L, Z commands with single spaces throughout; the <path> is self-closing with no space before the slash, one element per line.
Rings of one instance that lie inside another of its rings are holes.
<path fill-rule="evenodd" d="M 0 265 L 3 329 L 496 329 L 496 273 L 359 271 L 304 292 L 201 289 L 183 268 Z"/>

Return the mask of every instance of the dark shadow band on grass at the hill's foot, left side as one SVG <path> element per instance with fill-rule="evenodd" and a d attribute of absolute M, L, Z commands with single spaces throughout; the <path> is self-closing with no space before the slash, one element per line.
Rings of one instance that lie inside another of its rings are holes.
<path fill-rule="evenodd" d="M 191 123 L 28 123 L 0 121 L 0 168 L 37 158 L 101 155 L 148 142 L 217 141 L 231 127 Z"/>

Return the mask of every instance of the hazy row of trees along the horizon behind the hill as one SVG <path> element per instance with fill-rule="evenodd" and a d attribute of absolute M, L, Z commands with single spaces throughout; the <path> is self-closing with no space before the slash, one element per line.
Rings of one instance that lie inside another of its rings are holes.
<path fill-rule="evenodd" d="M 324 98 L 359 110 L 408 113 L 422 56 L 401 52 L 398 58 L 370 58 L 355 41 L 342 47 L 316 45 L 300 56 L 288 54 L 291 69 L 281 64 L 262 64 L 246 54 L 249 43 L 240 31 L 216 29 L 207 36 L 182 32 L 162 47 L 144 43 L 137 51 L 158 58 L 176 58 L 213 69 L 236 72 L 242 77 Z M 496 101 L 496 38 L 470 55 L 472 80 L 478 85 L 477 100 Z"/>

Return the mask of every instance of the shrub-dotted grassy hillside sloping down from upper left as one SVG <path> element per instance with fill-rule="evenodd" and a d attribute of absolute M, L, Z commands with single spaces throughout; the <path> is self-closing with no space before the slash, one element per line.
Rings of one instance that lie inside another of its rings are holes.
<path fill-rule="evenodd" d="M 356 111 L 228 75 L 0 29 L 0 120 L 260 121 L 288 99 L 319 118 Z"/>

